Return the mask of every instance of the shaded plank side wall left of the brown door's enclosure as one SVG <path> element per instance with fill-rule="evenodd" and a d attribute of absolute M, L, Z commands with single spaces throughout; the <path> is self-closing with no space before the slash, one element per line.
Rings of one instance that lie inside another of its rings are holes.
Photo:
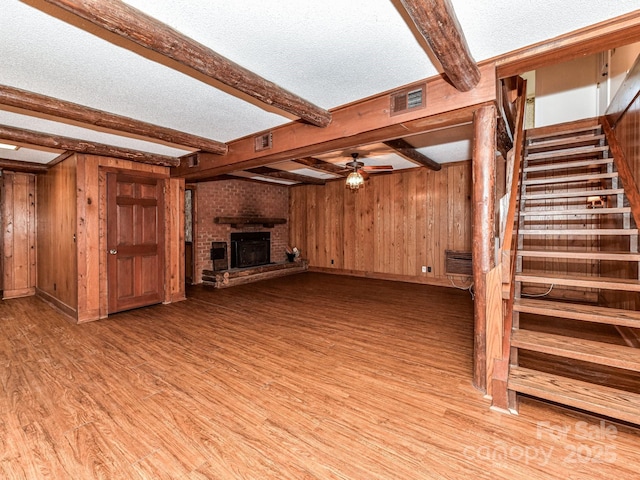
<path fill-rule="evenodd" d="M 76 158 L 37 177 L 38 292 L 69 315 L 78 306 Z"/>

